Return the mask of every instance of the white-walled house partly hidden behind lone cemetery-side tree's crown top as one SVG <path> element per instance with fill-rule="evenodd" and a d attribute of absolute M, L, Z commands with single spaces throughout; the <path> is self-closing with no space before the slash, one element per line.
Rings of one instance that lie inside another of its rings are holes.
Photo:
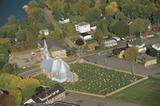
<path fill-rule="evenodd" d="M 137 47 L 138 48 L 138 53 L 145 53 L 147 48 L 145 47 L 145 44 L 141 40 L 135 40 L 128 42 L 128 47 Z"/>

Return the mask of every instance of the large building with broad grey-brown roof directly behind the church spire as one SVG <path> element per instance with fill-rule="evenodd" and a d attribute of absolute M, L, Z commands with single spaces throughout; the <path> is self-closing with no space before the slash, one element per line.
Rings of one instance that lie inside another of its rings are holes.
<path fill-rule="evenodd" d="M 66 58 L 67 57 L 67 50 L 62 45 L 60 40 L 55 39 L 55 38 L 47 39 L 46 43 L 48 45 L 48 49 L 52 57 L 55 57 L 55 58 Z M 38 47 L 43 49 L 44 47 L 43 41 L 38 42 Z"/>

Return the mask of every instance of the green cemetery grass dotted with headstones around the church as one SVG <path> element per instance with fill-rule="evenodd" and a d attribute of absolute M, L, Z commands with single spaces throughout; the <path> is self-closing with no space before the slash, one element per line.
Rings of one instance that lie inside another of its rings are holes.
<path fill-rule="evenodd" d="M 63 83 L 62 86 L 69 90 L 99 95 L 108 94 L 141 78 L 87 63 L 72 64 L 71 68 L 78 74 L 79 81 L 75 83 Z M 37 76 L 36 78 L 39 79 L 43 85 L 50 86 L 55 83 L 47 79 L 44 75 Z"/>

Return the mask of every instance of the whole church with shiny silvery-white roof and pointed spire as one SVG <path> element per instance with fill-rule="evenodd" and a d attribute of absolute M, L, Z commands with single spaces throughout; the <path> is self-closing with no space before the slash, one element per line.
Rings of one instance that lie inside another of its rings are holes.
<path fill-rule="evenodd" d="M 44 40 L 41 69 L 50 79 L 59 83 L 75 82 L 78 80 L 78 76 L 71 71 L 66 62 L 64 62 L 61 58 L 50 56 L 46 40 Z"/>

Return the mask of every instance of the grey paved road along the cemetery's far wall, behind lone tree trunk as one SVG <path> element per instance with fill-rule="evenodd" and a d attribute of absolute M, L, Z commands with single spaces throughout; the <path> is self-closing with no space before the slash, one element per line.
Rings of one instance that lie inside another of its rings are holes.
<path fill-rule="evenodd" d="M 104 53 L 86 56 L 84 59 L 113 69 L 131 72 L 131 63 L 125 60 L 107 57 L 107 54 Z M 134 72 L 143 75 L 155 75 L 156 73 L 160 73 L 160 65 L 157 64 L 149 68 L 144 68 L 144 66 L 135 63 Z"/>

